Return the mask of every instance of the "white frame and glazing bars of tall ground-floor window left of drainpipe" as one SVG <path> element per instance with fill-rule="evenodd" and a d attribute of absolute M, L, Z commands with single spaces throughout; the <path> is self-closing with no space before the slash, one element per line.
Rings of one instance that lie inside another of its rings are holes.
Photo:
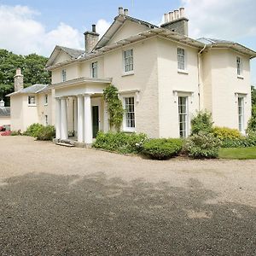
<path fill-rule="evenodd" d="M 180 99 L 185 100 L 185 105 L 180 105 Z M 180 111 L 181 106 L 185 106 L 185 112 Z M 185 116 L 185 122 L 181 122 L 181 115 Z M 189 96 L 179 95 L 177 96 L 177 121 L 178 121 L 178 134 L 181 138 L 189 137 Z M 184 123 L 183 130 L 181 130 L 180 125 Z"/>

